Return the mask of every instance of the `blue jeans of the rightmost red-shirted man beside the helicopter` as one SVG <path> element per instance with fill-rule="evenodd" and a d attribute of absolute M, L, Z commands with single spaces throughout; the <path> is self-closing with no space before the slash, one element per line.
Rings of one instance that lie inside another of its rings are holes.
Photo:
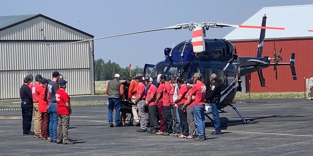
<path fill-rule="evenodd" d="M 205 137 L 205 107 L 202 105 L 194 105 L 195 124 L 197 126 L 199 137 Z"/>

